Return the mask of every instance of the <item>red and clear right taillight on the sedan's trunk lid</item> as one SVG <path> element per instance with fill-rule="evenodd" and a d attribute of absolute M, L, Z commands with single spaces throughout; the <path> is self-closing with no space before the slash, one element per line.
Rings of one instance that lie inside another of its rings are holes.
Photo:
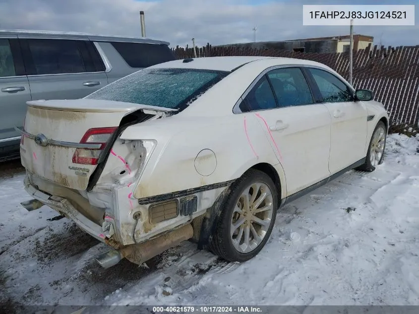
<path fill-rule="evenodd" d="M 101 144 L 98 149 L 77 148 L 73 154 L 72 162 L 81 165 L 97 165 L 99 156 L 106 143 L 118 127 L 90 128 L 80 140 L 81 144 Z"/>

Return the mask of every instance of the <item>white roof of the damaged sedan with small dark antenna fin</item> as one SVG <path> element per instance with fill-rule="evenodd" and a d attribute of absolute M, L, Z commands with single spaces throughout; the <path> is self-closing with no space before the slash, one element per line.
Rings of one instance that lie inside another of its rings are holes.
<path fill-rule="evenodd" d="M 188 62 L 184 62 L 188 61 Z M 165 63 L 159 63 L 151 66 L 152 68 L 193 68 L 193 69 L 206 69 L 216 71 L 232 71 L 246 63 L 255 62 L 260 63 L 261 66 L 264 63 L 272 63 L 275 65 L 287 65 L 287 64 L 305 64 L 305 65 L 316 65 L 324 68 L 328 68 L 326 65 L 310 60 L 294 59 L 294 58 L 279 58 L 279 57 L 203 57 L 203 58 L 191 58 L 174 60 Z"/>

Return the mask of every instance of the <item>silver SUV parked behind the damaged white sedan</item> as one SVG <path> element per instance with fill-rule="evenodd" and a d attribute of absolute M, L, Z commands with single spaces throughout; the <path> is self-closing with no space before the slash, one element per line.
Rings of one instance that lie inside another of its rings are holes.
<path fill-rule="evenodd" d="M 0 31 L 0 161 L 19 156 L 26 102 L 78 99 L 138 69 L 175 60 L 146 38 Z"/>

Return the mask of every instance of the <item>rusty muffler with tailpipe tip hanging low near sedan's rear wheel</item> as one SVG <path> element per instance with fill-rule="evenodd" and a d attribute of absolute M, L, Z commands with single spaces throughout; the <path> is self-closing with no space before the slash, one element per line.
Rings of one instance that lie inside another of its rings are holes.
<path fill-rule="evenodd" d="M 126 258 L 130 262 L 141 265 L 150 258 L 177 246 L 182 241 L 189 240 L 192 236 L 192 225 L 187 224 L 153 240 L 139 244 L 131 244 L 120 250 L 108 251 L 97 257 L 96 260 L 103 268 L 109 268 L 116 265 L 122 258 Z"/>

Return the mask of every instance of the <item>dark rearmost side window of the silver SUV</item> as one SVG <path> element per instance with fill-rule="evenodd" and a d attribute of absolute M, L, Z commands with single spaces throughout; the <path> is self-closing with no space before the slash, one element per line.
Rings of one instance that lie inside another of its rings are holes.
<path fill-rule="evenodd" d="M 167 45 L 120 42 L 111 44 L 131 67 L 148 67 L 176 59 Z"/>

